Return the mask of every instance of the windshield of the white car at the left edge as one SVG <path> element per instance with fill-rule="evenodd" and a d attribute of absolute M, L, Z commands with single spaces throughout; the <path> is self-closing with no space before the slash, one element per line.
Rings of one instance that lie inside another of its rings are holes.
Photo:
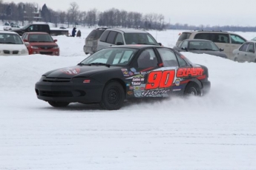
<path fill-rule="evenodd" d="M 0 33 L 0 44 L 23 44 L 23 41 L 19 35 Z"/>

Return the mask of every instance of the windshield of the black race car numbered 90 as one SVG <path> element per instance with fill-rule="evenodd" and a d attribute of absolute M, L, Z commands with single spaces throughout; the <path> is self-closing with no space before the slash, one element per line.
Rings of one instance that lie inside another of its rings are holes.
<path fill-rule="evenodd" d="M 134 57 L 137 49 L 132 48 L 107 48 L 90 55 L 80 64 L 85 65 L 121 65 L 125 66 Z"/>

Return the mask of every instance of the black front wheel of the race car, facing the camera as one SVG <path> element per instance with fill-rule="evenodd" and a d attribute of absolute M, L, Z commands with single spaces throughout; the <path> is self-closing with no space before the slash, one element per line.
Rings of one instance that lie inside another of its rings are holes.
<path fill-rule="evenodd" d="M 125 92 L 122 85 L 117 81 L 111 81 L 105 85 L 102 92 L 102 101 L 100 101 L 100 106 L 103 109 L 117 110 L 122 107 L 125 101 Z"/>

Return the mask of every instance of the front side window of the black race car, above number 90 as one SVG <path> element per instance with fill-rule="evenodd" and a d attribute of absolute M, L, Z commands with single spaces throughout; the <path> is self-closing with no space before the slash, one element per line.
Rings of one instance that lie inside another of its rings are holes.
<path fill-rule="evenodd" d="M 139 68 L 157 67 L 157 56 L 155 55 L 154 50 L 144 50 L 140 54 L 137 63 Z"/>

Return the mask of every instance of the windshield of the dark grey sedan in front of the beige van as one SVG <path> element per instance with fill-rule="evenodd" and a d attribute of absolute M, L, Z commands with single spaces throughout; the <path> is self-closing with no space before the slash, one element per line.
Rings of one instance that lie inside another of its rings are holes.
<path fill-rule="evenodd" d="M 212 41 L 189 41 L 188 50 L 220 51 Z"/>

